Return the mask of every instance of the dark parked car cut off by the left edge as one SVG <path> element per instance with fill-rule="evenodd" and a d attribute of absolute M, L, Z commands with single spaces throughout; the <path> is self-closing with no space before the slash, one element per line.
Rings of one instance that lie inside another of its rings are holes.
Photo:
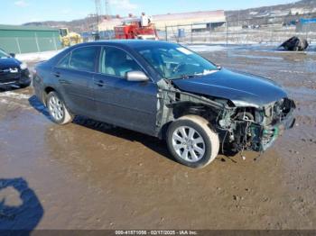
<path fill-rule="evenodd" d="M 31 84 L 31 76 L 27 65 L 0 49 L 0 86 L 21 86 Z"/>

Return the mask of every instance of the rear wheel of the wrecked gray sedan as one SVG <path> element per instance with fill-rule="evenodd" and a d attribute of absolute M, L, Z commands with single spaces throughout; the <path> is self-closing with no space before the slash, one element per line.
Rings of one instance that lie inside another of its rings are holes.
<path fill-rule="evenodd" d="M 71 123 L 73 116 L 69 112 L 66 104 L 56 92 L 51 92 L 46 99 L 47 108 L 51 114 L 51 120 L 54 123 L 66 124 Z"/>

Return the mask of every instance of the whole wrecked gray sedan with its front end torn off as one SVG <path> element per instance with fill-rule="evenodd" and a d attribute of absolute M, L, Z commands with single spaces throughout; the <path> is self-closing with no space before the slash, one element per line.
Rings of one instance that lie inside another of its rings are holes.
<path fill-rule="evenodd" d="M 191 168 L 208 165 L 219 148 L 264 151 L 295 121 L 293 100 L 272 80 L 164 41 L 79 44 L 35 70 L 35 93 L 53 122 L 79 114 L 143 132 Z"/>

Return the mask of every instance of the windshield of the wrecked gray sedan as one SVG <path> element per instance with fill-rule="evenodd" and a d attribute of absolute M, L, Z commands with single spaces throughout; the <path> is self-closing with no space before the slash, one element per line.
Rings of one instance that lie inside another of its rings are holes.
<path fill-rule="evenodd" d="M 163 78 L 198 77 L 218 71 L 209 60 L 180 45 L 170 44 L 136 50 Z"/>

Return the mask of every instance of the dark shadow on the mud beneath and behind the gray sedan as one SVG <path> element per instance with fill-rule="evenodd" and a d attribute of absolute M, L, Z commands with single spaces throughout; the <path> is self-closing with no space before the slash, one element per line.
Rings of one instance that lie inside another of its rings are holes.
<path fill-rule="evenodd" d="M 50 113 L 47 111 L 46 107 L 38 100 L 38 98 L 35 95 L 29 98 L 29 104 L 32 105 L 33 108 L 37 110 L 39 113 L 45 115 L 47 119 L 51 120 Z M 80 126 L 86 127 L 94 131 L 104 132 L 109 135 L 116 136 L 118 138 L 125 139 L 128 141 L 140 142 L 147 148 L 155 151 L 163 157 L 175 161 L 172 158 L 169 151 L 167 150 L 165 141 L 161 141 L 152 136 L 145 135 L 140 132 L 133 132 L 130 130 L 126 130 L 124 128 L 114 127 L 110 124 L 101 123 L 83 116 L 76 116 L 72 123 L 78 124 Z"/>

